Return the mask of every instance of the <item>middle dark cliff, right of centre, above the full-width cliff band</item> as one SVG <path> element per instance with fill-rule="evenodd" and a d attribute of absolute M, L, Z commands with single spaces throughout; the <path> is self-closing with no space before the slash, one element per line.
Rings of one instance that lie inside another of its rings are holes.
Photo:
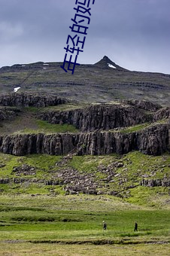
<path fill-rule="evenodd" d="M 49 123 L 69 123 L 81 132 L 111 130 L 152 120 L 140 108 L 131 105 L 94 105 L 71 111 L 47 111 L 39 116 Z"/>

